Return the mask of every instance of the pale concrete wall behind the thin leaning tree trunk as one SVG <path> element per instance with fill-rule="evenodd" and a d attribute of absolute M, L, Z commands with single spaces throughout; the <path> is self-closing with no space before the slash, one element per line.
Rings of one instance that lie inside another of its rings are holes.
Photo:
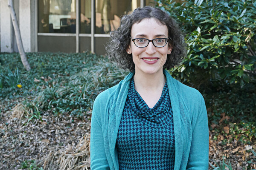
<path fill-rule="evenodd" d="M 36 51 L 35 0 L 13 0 L 25 52 Z M 0 0 L 1 52 L 18 52 L 8 0 Z"/>

